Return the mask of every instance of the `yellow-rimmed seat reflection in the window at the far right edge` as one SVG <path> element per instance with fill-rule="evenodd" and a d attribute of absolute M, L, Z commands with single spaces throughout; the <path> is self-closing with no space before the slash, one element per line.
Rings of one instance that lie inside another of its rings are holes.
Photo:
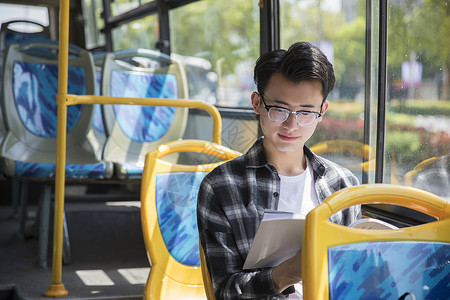
<path fill-rule="evenodd" d="M 450 153 L 428 158 L 405 174 L 405 184 L 450 201 Z"/>

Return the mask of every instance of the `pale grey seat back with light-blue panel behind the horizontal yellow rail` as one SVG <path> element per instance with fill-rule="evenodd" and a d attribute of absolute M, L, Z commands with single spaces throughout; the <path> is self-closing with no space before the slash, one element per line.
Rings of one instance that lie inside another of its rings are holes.
<path fill-rule="evenodd" d="M 188 96 L 183 66 L 150 50 L 107 54 L 102 94 L 114 97 L 184 98 Z M 170 100 L 168 100 L 170 101 Z M 188 108 L 103 105 L 107 141 L 103 158 L 115 163 L 119 179 L 140 179 L 145 155 L 183 137 Z M 176 154 L 172 161 L 176 159 Z"/>

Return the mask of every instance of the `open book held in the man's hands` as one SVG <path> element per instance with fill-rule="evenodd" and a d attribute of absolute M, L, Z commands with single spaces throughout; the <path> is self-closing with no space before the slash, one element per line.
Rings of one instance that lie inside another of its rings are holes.
<path fill-rule="evenodd" d="M 256 232 L 243 269 L 275 267 L 302 248 L 305 215 L 266 210 Z M 371 218 L 356 220 L 349 227 L 359 229 L 398 229 Z"/>

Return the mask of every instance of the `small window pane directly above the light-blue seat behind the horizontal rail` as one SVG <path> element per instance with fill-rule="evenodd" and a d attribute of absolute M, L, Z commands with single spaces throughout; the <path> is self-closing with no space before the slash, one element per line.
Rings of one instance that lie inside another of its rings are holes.
<path fill-rule="evenodd" d="M 123 24 L 112 31 L 114 51 L 121 49 L 155 49 L 158 41 L 156 15 Z"/>

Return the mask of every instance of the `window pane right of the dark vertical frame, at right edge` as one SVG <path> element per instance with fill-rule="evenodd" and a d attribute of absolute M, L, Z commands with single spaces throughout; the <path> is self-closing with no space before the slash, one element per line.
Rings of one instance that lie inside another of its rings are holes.
<path fill-rule="evenodd" d="M 450 199 L 450 1 L 388 1 L 384 181 Z"/>

